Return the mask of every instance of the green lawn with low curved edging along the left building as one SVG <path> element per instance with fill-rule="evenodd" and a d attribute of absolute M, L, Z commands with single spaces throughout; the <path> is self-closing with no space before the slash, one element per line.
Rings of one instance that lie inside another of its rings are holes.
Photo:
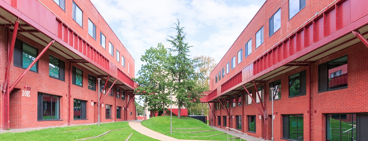
<path fill-rule="evenodd" d="M 128 127 L 128 128 L 125 128 Z M 89 130 L 71 131 L 91 128 Z M 47 128 L 37 131 L 28 131 L 22 133 L 3 133 L 0 134 L 0 141 L 72 141 L 81 138 L 88 138 L 98 136 L 109 130 L 125 128 L 122 130 L 111 131 L 102 137 L 93 138 L 90 140 L 95 141 L 115 141 L 115 140 L 126 140 L 128 136 L 133 132 L 129 141 L 157 141 L 151 137 L 147 137 L 138 133 L 129 127 L 128 122 L 114 122 L 114 123 L 103 123 L 100 127 L 97 125 L 89 126 L 70 126 L 70 127 L 58 127 L 58 128 Z M 71 131 L 71 132 L 62 132 Z"/>

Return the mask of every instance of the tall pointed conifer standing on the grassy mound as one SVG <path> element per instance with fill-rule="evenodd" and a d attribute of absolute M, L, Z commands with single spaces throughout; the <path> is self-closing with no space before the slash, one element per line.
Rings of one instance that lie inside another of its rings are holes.
<path fill-rule="evenodd" d="M 176 27 L 171 27 L 177 31 L 176 36 L 168 36 L 166 39 L 171 43 L 170 51 L 174 56 L 170 55 L 169 72 L 173 80 L 173 93 L 176 95 L 176 105 L 178 106 L 178 118 L 182 107 L 192 107 L 194 103 L 199 103 L 199 98 L 204 88 L 197 85 L 198 73 L 195 69 L 198 67 L 198 59 L 190 59 L 188 54 L 190 47 L 185 43 L 185 32 L 180 27 L 180 22 L 175 23 Z"/>

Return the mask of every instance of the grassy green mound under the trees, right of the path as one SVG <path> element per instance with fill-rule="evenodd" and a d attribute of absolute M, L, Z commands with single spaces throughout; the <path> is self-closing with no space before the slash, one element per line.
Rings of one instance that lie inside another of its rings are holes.
<path fill-rule="evenodd" d="M 148 120 L 142 121 L 142 125 L 150 128 L 153 131 L 158 133 L 174 137 L 180 140 L 216 140 L 216 141 L 226 141 L 227 135 L 215 135 L 221 134 L 221 131 L 208 131 L 208 132 L 201 132 L 201 133 L 178 133 L 173 132 L 170 134 L 170 116 L 158 116 L 158 117 L 151 117 Z M 173 117 L 173 128 L 196 128 L 202 127 L 198 129 L 173 129 L 173 131 L 184 131 L 184 132 L 195 132 L 195 131 L 205 131 L 205 130 L 214 130 L 210 126 L 206 125 L 202 121 L 197 119 L 189 118 L 189 117 L 181 117 L 178 119 L 176 116 Z M 215 135 L 211 137 L 194 137 L 194 136 L 208 136 L 208 135 Z M 231 135 L 229 135 L 229 138 Z M 237 139 L 239 141 L 239 139 Z M 245 141 L 245 140 L 242 140 Z"/>

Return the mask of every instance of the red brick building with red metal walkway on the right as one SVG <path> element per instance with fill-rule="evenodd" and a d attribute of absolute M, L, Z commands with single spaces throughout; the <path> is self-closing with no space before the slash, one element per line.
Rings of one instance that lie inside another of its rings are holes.
<path fill-rule="evenodd" d="M 210 124 L 271 140 L 273 114 L 275 141 L 368 140 L 367 4 L 266 0 L 210 74 Z"/>

